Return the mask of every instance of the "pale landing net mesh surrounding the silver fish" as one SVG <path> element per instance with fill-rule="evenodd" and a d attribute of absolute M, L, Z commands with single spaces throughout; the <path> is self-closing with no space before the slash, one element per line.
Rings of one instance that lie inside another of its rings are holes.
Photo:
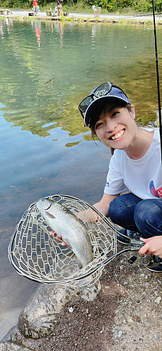
<path fill-rule="evenodd" d="M 63 204 L 73 213 L 92 208 L 86 201 L 67 195 L 46 199 Z M 85 217 L 83 223 L 93 248 L 93 260 L 81 270 L 72 250 L 50 236 L 51 228 L 36 203 L 29 206 L 15 228 L 8 246 L 9 260 L 19 274 L 36 282 L 93 286 L 102 274 L 104 260 L 116 253 L 116 228 L 104 216 L 97 223 L 90 223 Z"/>

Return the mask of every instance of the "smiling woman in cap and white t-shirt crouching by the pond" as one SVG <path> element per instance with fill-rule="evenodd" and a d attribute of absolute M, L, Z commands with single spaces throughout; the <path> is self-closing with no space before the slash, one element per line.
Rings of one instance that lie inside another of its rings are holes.
<path fill-rule="evenodd" d="M 106 84 L 107 92 L 104 89 L 102 96 L 97 95 L 96 91 Z M 123 244 L 128 244 L 128 237 L 144 238 L 146 245 L 140 254 L 154 253 L 159 262 L 157 267 L 147 269 L 162 272 L 162 169 L 158 128 L 149 130 L 137 126 L 135 106 L 121 88 L 109 82 L 100 87 L 90 93 L 91 100 L 83 99 L 79 105 L 84 123 L 92 133 L 96 133 L 104 145 L 115 149 L 104 195 L 93 206 L 123 227 L 121 235 L 117 234 Z M 84 110 L 81 111 L 81 107 Z M 148 240 L 150 237 L 152 240 Z"/>

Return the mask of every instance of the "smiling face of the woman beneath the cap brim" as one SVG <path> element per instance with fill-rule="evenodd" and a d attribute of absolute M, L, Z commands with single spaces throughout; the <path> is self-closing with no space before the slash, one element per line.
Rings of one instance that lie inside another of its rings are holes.
<path fill-rule="evenodd" d="M 126 107 L 107 106 L 95 124 L 95 133 L 104 145 L 127 150 L 133 143 L 137 131 L 134 119 L 134 105 L 131 105 L 131 112 Z"/>

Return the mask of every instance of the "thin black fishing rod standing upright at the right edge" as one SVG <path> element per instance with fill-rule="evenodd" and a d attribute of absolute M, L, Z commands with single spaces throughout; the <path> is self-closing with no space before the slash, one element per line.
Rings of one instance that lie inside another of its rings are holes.
<path fill-rule="evenodd" d="M 157 77 L 157 88 L 158 88 L 158 119 L 159 119 L 159 131 L 160 131 L 160 140 L 161 140 L 161 162 L 162 162 L 161 92 L 160 92 L 160 82 L 159 82 L 159 72 L 158 72 L 158 46 L 157 46 L 157 40 L 156 40 L 156 22 L 155 22 L 154 0 L 152 0 L 152 11 L 153 11 L 153 19 L 154 19 L 156 77 Z"/>

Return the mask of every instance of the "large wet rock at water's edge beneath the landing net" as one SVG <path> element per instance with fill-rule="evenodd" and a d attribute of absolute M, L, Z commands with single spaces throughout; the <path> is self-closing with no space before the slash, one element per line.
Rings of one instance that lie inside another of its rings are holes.
<path fill-rule="evenodd" d="M 79 291 L 77 288 L 61 284 L 42 284 L 22 310 L 18 328 L 27 338 L 49 336 L 55 329 L 58 316 L 65 305 L 73 298 L 94 300 L 100 291 L 100 284 L 90 289 Z"/>

